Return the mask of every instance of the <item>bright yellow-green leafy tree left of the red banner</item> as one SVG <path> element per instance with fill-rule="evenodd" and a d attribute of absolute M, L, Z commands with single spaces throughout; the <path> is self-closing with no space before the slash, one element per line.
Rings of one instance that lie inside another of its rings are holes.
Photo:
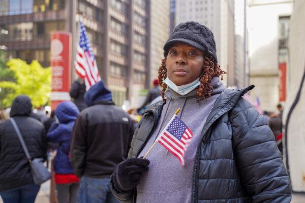
<path fill-rule="evenodd" d="M 6 65 L 13 73 L 15 81 L 1 81 L 0 88 L 8 90 L 3 105 L 9 107 L 20 94 L 32 99 L 34 107 L 46 105 L 51 93 L 51 68 L 44 68 L 37 60 L 27 64 L 21 59 L 10 59 Z M 6 70 L 7 71 L 7 70 Z"/>

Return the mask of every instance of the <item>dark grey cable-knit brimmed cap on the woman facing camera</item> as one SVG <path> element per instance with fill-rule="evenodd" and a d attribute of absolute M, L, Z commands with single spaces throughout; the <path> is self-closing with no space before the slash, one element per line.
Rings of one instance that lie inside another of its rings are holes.
<path fill-rule="evenodd" d="M 198 22 L 184 22 L 175 27 L 163 47 L 164 57 L 167 56 L 170 47 L 175 42 L 191 45 L 196 49 L 211 55 L 214 57 L 214 62 L 218 62 L 214 35 L 209 28 Z"/>

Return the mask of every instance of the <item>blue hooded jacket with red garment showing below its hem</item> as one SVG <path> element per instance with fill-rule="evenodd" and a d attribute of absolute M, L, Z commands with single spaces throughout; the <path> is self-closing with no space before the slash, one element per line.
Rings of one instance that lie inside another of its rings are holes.
<path fill-rule="evenodd" d="M 54 172 L 57 174 L 73 174 L 69 158 L 71 133 L 74 122 L 79 114 L 78 108 L 72 101 L 60 103 L 55 110 L 59 123 L 53 123 L 47 133 L 49 142 L 58 143 L 59 147 L 54 160 Z"/>

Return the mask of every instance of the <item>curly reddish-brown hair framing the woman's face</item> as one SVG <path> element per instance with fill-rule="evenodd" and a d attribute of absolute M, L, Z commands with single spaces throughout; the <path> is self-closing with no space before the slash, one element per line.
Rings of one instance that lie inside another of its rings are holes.
<path fill-rule="evenodd" d="M 205 56 L 202 73 L 203 74 L 199 79 L 200 85 L 196 88 L 197 103 L 199 103 L 199 99 L 205 100 L 211 96 L 214 90 L 211 85 L 211 80 L 214 77 L 221 77 L 221 80 L 223 80 L 223 75 L 226 74 L 225 71 L 220 69 L 220 65 L 217 62 L 214 62 L 214 58 L 212 56 Z M 159 84 L 162 87 L 161 96 L 163 101 L 165 101 L 164 92 L 167 88 L 167 85 L 163 81 L 166 79 L 166 77 L 166 58 L 163 58 L 158 69 L 158 79 Z"/>

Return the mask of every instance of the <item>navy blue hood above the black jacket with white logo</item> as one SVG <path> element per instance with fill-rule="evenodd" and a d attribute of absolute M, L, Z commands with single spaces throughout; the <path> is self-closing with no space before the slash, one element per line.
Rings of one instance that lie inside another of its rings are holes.
<path fill-rule="evenodd" d="M 112 93 L 107 87 L 105 87 L 104 82 L 94 84 L 84 95 L 85 103 L 88 107 L 96 105 L 101 101 L 112 101 Z"/>

